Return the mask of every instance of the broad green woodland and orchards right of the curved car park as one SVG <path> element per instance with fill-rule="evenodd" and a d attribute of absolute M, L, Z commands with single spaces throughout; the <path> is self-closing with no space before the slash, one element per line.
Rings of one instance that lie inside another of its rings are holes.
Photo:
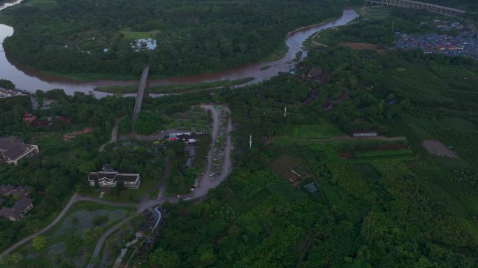
<path fill-rule="evenodd" d="M 240 91 L 222 90 L 238 129 L 236 142 L 248 148 L 252 133 L 255 145 L 238 154 L 233 174 L 207 201 L 166 207 L 166 228 L 143 263 L 475 267 L 476 63 L 419 52 L 381 55 L 327 47 L 309 52 L 301 66 L 321 66 L 331 72 L 330 82 L 284 74 Z M 462 95 L 450 97 L 458 84 Z M 317 98 L 305 104 L 314 90 Z M 329 100 L 344 93 L 349 98 L 324 111 Z M 290 111 L 285 119 L 284 106 Z M 460 120 L 472 127 L 450 125 Z M 322 126 L 328 121 L 348 133 L 376 130 L 405 136 L 413 157 L 400 156 L 404 151 L 366 153 L 377 147 L 370 142 L 295 140 L 296 134 L 289 132 L 293 126 Z M 287 142 L 277 142 L 283 135 L 289 135 Z M 463 162 L 453 165 L 451 158 L 429 154 L 421 145 L 426 139 L 452 145 Z M 363 158 L 357 165 L 359 159 L 338 157 L 340 151 L 354 150 L 361 151 L 357 157 L 374 158 Z M 269 165 L 284 154 L 303 158 L 312 178 L 294 188 L 278 177 Z M 319 192 L 305 191 L 302 185 L 310 181 Z"/>

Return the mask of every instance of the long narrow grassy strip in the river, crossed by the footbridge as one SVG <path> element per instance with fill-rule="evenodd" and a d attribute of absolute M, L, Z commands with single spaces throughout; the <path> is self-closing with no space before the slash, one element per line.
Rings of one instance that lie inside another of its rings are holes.
<path fill-rule="evenodd" d="M 245 77 L 238 80 L 222 80 L 217 82 L 204 82 L 196 84 L 166 84 L 154 86 L 146 89 L 147 93 L 152 94 L 168 94 L 168 93 L 184 93 L 187 91 L 194 91 L 199 89 L 215 89 L 218 87 L 231 87 L 238 84 L 245 84 L 254 80 L 255 77 Z M 137 86 L 110 86 L 110 87 L 96 87 L 94 91 L 113 93 L 113 94 L 134 94 L 138 91 Z"/>

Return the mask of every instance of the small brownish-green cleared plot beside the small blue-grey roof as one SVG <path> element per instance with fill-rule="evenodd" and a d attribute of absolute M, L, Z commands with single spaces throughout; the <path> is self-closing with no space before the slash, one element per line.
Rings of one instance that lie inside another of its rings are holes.
<path fill-rule="evenodd" d="M 294 158 L 286 154 L 279 156 L 270 163 L 269 168 L 277 176 L 287 179 L 294 186 L 298 186 L 300 180 L 310 177 L 310 173 L 302 158 Z"/>

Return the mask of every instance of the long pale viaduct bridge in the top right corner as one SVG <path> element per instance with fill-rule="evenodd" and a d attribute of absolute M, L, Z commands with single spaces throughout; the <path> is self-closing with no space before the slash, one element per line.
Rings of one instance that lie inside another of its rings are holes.
<path fill-rule="evenodd" d="M 383 6 L 396 6 L 399 8 L 415 8 L 422 9 L 428 12 L 437 13 L 450 17 L 463 17 L 466 11 L 456 8 L 448 8 L 447 6 L 433 5 L 432 3 L 423 3 L 410 0 L 365 0 L 366 3 L 380 4 Z"/>

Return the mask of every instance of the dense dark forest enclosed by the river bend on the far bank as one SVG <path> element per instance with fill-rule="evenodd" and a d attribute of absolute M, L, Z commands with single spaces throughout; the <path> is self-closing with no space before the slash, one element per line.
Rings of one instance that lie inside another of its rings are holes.
<path fill-rule="evenodd" d="M 338 17 L 343 1 L 25 1 L 4 13 L 4 47 L 21 64 L 58 73 L 156 75 L 224 70 L 260 61 L 288 31 Z M 137 38 L 154 50 L 135 52 Z M 282 46 L 281 46 L 282 45 Z"/>

